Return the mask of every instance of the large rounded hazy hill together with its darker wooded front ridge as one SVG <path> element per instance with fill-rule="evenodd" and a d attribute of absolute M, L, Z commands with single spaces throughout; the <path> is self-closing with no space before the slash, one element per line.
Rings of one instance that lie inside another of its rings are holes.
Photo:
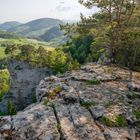
<path fill-rule="evenodd" d="M 64 24 L 64 22 L 59 19 L 41 18 L 25 24 L 19 23 L 19 25 L 18 22 L 16 22 L 17 26 L 14 25 L 15 22 L 10 23 L 13 23 L 13 26 L 11 26 L 11 28 L 9 26 L 9 28 L 5 28 L 5 30 L 10 33 L 14 32 L 19 36 L 53 42 L 53 44 L 61 44 L 65 41 L 63 32 L 59 29 L 59 25 Z"/>

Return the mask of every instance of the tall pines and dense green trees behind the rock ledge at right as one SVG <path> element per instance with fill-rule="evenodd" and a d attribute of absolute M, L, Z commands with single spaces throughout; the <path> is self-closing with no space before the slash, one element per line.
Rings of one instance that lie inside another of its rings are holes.
<path fill-rule="evenodd" d="M 89 9 L 96 5 L 100 10 L 90 17 L 81 14 L 81 20 L 77 24 L 61 26 L 69 37 L 65 51 L 70 52 L 81 64 L 96 62 L 102 54 L 106 54 L 112 63 L 133 70 L 139 67 L 139 3 L 135 0 L 79 0 L 79 2 Z"/>

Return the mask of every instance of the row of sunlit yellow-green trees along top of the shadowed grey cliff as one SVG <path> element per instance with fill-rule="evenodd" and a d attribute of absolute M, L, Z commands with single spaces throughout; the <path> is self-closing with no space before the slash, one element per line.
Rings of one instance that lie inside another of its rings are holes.
<path fill-rule="evenodd" d="M 36 48 L 30 44 L 19 46 L 8 45 L 5 53 L 11 59 L 26 61 L 35 67 L 48 67 L 54 73 L 64 73 L 73 69 L 77 70 L 80 67 L 76 60 L 73 60 L 70 55 L 67 55 L 61 49 L 46 50 L 41 46 Z"/>

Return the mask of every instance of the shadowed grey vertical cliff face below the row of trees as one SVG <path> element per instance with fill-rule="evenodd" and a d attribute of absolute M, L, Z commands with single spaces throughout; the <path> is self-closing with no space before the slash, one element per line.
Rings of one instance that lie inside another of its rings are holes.
<path fill-rule="evenodd" d="M 34 68 L 27 63 L 20 61 L 10 61 L 8 63 L 10 73 L 11 89 L 2 102 L 0 102 L 0 111 L 7 111 L 8 100 L 14 103 L 17 110 L 22 110 L 33 102 L 35 96 L 35 87 L 45 76 L 50 75 L 46 68 Z"/>

